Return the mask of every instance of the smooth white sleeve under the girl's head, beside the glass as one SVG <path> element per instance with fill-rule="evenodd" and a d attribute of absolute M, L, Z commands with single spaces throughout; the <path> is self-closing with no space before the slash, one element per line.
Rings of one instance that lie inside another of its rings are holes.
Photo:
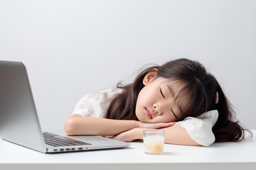
<path fill-rule="evenodd" d="M 189 133 L 189 136 L 202 146 L 210 146 L 215 141 L 212 127 L 218 119 L 218 110 L 211 110 L 198 117 L 186 117 L 175 125 L 180 126 Z"/>

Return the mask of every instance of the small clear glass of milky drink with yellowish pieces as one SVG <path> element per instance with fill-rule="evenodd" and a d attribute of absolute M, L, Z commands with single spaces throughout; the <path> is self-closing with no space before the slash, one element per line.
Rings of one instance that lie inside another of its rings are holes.
<path fill-rule="evenodd" d="M 164 153 L 164 130 L 143 130 L 144 152 L 146 154 Z"/>

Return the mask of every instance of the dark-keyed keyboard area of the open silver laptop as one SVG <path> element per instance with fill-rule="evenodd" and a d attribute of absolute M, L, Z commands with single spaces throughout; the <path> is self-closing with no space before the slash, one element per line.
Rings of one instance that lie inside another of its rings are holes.
<path fill-rule="evenodd" d="M 78 141 L 76 139 L 71 139 L 69 137 L 64 137 L 48 132 L 43 132 L 43 137 L 45 139 L 45 144 L 51 146 L 92 145 L 83 141 Z"/>

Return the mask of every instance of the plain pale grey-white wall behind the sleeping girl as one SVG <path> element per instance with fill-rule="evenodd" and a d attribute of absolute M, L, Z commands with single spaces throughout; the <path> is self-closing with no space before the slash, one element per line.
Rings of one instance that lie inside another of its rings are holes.
<path fill-rule="evenodd" d="M 255 0 L 0 0 L 0 60 L 25 62 L 43 130 L 63 129 L 85 94 L 180 57 L 256 129 L 255 30 Z"/>

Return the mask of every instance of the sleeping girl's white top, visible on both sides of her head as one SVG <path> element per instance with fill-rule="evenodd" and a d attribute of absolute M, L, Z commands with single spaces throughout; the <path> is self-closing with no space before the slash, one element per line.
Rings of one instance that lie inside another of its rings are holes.
<path fill-rule="evenodd" d="M 79 100 L 73 114 L 106 118 L 112 98 L 122 91 L 123 89 L 121 88 L 108 88 L 98 93 L 89 93 Z M 212 127 L 217 119 L 218 111 L 211 110 L 198 117 L 186 117 L 183 121 L 178 121 L 175 125 L 186 129 L 189 136 L 198 144 L 209 146 L 215 141 Z"/>

